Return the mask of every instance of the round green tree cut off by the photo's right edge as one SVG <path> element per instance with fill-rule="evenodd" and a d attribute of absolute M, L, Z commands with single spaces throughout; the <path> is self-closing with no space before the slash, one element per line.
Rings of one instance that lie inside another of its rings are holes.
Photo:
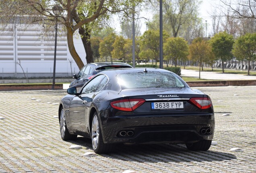
<path fill-rule="evenodd" d="M 235 40 L 232 53 L 239 60 L 248 60 L 248 75 L 250 75 L 250 61 L 256 60 L 256 33 L 247 33 Z"/>

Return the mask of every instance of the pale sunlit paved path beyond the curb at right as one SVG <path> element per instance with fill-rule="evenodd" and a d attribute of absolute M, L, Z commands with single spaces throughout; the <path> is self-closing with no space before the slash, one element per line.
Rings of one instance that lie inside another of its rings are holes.
<path fill-rule="evenodd" d="M 181 76 L 188 77 L 196 77 L 199 78 L 199 70 L 181 70 Z M 256 76 L 248 76 L 242 74 L 227 74 L 220 72 L 209 72 L 209 71 L 201 71 L 200 78 L 202 79 L 210 79 L 210 80 L 256 80 Z"/>

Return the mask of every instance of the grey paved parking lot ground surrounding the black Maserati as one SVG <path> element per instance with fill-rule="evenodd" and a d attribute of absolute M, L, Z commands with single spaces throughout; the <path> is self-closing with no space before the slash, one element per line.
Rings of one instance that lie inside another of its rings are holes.
<path fill-rule="evenodd" d="M 201 87 L 215 109 L 208 151 L 180 145 L 118 145 L 96 155 L 90 139 L 62 141 L 58 103 L 66 91 L 0 91 L 0 173 L 256 172 L 256 86 Z M 80 147 L 81 149 L 72 149 Z"/>

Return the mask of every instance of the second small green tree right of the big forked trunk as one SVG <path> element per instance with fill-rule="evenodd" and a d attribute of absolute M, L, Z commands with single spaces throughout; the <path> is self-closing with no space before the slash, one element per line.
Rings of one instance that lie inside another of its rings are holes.
<path fill-rule="evenodd" d="M 111 52 L 114 50 L 113 44 L 116 40 L 116 34 L 111 33 L 106 36 L 103 41 L 99 44 L 99 54 L 101 57 L 105 57 L 107 61 L 107 57 L 110 57 L 110 61 L 112 60 Z"/>

